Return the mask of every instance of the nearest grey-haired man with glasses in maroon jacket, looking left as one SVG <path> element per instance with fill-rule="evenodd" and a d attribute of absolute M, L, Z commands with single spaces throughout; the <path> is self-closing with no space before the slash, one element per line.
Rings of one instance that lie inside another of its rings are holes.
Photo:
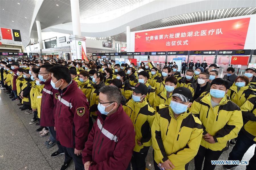
<path fill-rule="evenodd" d="M 104 86 L 99 92 L 98 118 L 82 153 L 84 168 L 125 170 L 135 146 L 134 127 L 120 104 L 118 87 Z"/>

